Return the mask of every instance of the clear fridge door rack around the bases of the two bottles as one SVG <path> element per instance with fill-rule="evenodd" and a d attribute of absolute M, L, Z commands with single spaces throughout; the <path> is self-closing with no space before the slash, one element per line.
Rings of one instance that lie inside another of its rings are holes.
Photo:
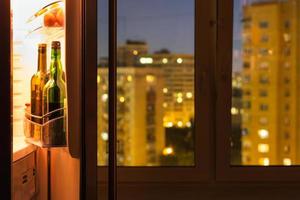
<path fill-rule="evenodd" d="M 41 148 L 67 146 L 66 108 L 57 109 L 44 116 L 26 113 L 24 134 L 26 142 Z"/>

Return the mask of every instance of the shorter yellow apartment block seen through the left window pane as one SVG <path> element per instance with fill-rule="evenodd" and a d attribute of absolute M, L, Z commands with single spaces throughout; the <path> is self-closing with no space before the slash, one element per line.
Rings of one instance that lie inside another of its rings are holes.
<path fill-rule="evenodd" d="M 159 164 L 165 146 L 163 78 L 158 68 L 121 67 L 117 77 L 119 165 Z M 98 164 L 107 164 L 108 70 L 98 68 Z"/>

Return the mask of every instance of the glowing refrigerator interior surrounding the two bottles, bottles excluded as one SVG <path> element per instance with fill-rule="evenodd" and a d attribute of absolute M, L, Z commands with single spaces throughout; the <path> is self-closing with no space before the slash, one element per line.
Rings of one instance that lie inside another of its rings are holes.
<path fill-rule="evenodd" d="M 70 156 L 68 147 L 51 148 L 49 150 L 51 151 L 51 179 L 48 181 L 47 149 L 29 142 L 30 140 L 25 137 L 27 129 L 24 122 L 25 105 L 31 101 L 31 77 L 37 72 L 38 44 L 47 44 L 47 70 L 49 70 L 51 42 L 60 41 L 61 61 L 63 71 L 66 72 L 66 2 L 64 0 L 11 0 L 10 2 L 13 199 L 26 200 L 31 199 L 32 196 L 35 199 L 48 199 L 49 188 L 51 199 L 79 199 L 79 160 Z M 58 15 L 56 18 L 46 19 L 46 15 L 51 14 L 55 9 L 63 11 L 63 15 L 60 15 L 59 19 Z M 25 183 L 24 177 L 26 177 Z M 48 182 L 51 183 L 51 187 L 48 187 Z"/>

